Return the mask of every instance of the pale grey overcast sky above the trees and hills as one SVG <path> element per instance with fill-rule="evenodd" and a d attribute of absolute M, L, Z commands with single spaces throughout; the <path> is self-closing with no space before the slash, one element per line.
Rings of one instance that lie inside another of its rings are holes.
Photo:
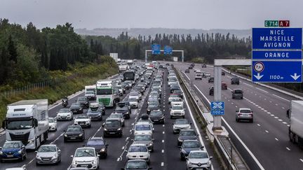
<path fill-rule="evenodd" d="M 0 17 L 36 27 L 250 29 L 303 27 L 303 0 L 0 0 Z"/>

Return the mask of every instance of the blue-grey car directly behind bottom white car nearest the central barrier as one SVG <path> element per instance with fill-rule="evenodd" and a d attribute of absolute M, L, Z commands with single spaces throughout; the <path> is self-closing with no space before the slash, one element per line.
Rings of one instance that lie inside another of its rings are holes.
<path fill-rule="evenodd" d="M 182 146 L 180 146 L 181 160 L 185 160 L 185 157 L 189 155 L 192 150 L 202 150 L 204 146 L 201 146 L 198 140 L 184 140 Z"/>

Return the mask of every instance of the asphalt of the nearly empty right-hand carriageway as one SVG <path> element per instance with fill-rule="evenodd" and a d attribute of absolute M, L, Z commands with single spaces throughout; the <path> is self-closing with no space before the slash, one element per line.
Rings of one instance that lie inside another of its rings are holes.
<path fill-rule="evenodd" d="M 213 83 L 208 83 L 208 78 L 194 80 L 192 69 L 190 73 L 184 73 L 189 64 L 178 63 L 174 66 L 182 72 L 185 80 L 192 82 L 200 97 L 206 98 L 208 102 L 213 101 L 213 96 L 209 95 Z M 196 67 L 213 76 L 213 67 L 201 68 L 200 64 L 196 64 Z M 222 82 L 227 83 L 228 87 L 228 90 L 222 90 L 222 101 L 225 102 L 222 125 L 226 127 L 231 141 L 250 169 L 302 169 L 302 150 L 290 143 L 288 138 L 289 120 L 286 111 L 290 100 L 295 98 L 247 80 L 240 80 L 240 85 L 231 85 L 231 77 L 229 73 L 222 76 Z M 231 99 L 231 90 L 234 88 L 243 90 L 243 99 Z M 254 122 L 236 122 L 238 108 L 251 108 L 254 111 Z"/>

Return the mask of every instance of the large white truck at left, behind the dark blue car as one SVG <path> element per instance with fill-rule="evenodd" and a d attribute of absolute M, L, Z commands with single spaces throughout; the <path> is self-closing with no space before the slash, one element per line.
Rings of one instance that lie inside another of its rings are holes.
<path fill-rule="evenodd" d="M 36 150 L 48 139 L 48 99 L 22 100 L 7 106 L 6 141 L 22 141 L 26 149 Z"/>

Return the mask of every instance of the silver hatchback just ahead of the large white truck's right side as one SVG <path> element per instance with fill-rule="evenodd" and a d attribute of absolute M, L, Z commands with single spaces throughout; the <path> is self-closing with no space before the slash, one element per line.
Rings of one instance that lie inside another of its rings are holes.
<path fill-rule="evenodd" d="M 35 153 L 36 165 L 59 164 L 61 162 L 61 150 L 56 145 L 42 145 Z"/>

